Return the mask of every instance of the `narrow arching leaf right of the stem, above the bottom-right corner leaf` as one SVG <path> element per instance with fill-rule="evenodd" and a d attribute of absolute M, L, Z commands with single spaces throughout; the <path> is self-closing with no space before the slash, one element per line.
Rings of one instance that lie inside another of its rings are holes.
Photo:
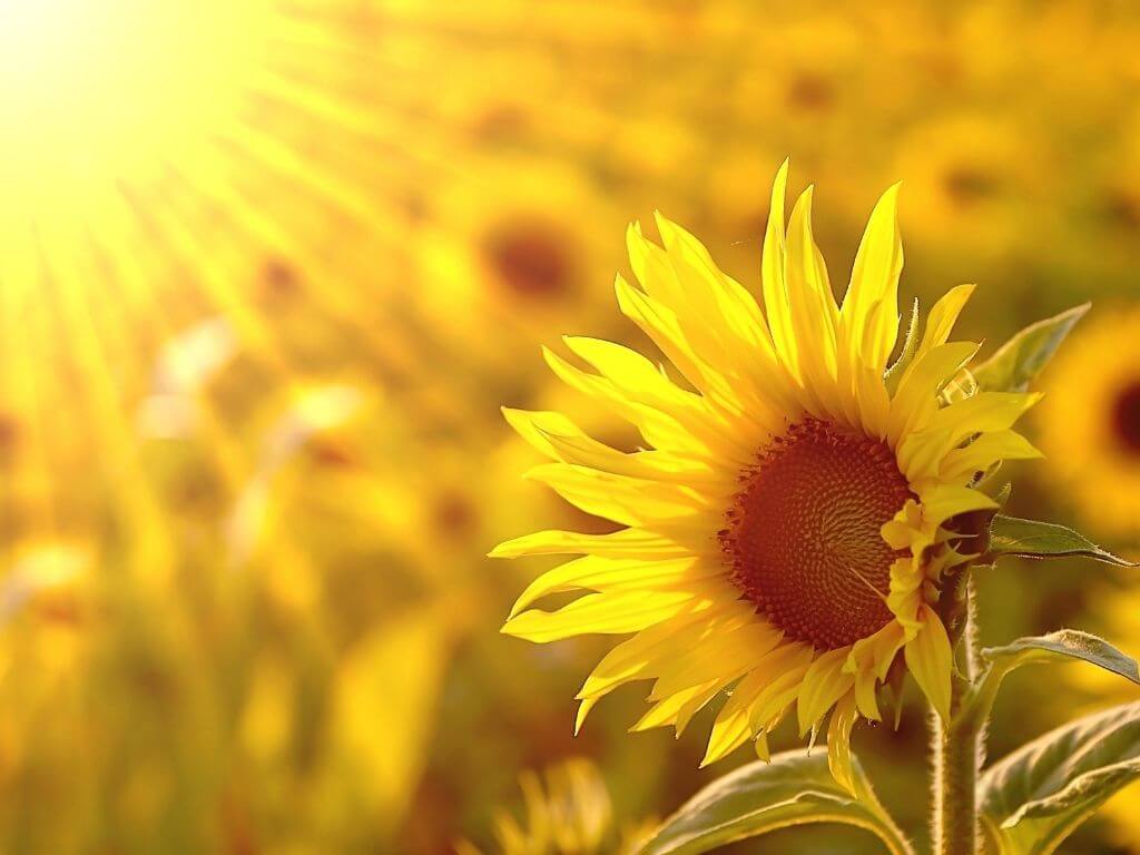
<path fill-rule="evenodd" d="M 1060 629 L 1049 635 L 1018 638 L 1000 648 L 984 649 L 982 660 L 986 666 L 985 671 L 967 694 L 958 716 L 972 716 L 978 722 L 987 719 L 1005 676 L 1023 665 L 1065 662 L 1074 659 L 1090 662 L 1140 684 L 1140 670 L 1132 657 L 1090 633 Z"/>

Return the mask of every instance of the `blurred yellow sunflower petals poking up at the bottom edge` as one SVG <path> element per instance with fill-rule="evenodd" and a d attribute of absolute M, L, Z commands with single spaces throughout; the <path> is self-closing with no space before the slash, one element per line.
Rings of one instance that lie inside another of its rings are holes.
<path fill-rule="evenodd" d="M 545 779 L 545 787 L 544 780 Z M 495 815 L 495 837 L 502 855 L 616 855 L 635 852 L 646 828 L 618 833 L 610 793 L 597 767 L 575 758 L 551 766 L 539 777 L 526 772 L 520 779 L 527 821 L 520 823 L 506 811 Z M 457 845 L 459 855 L 480 855 L 471 842 Z"/>

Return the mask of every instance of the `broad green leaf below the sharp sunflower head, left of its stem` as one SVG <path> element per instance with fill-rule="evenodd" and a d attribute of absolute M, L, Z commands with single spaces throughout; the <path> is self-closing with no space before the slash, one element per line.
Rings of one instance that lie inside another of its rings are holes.
<path fill-rule="evenodd" d="M 853 797 L 828 768 L 826 751 L 785 751 L 769 763 L 751 763 L 714 781 L 657 830 L 640 855 L 697 855 L 733 840 L 809 822 L 840 822 L 866 829 L 895 855 L 910 844 L 876 798 L 856 758 Z"/>

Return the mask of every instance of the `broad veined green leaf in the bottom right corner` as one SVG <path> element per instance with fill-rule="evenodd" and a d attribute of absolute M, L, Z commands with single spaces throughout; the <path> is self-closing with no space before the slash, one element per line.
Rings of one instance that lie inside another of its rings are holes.
<path fill-rule="evenodd" d="M 979 782 L 1000 855 L 1048 855 L 1140 777 L 1140 703 L 1070 722 L 994 764 Z"/>

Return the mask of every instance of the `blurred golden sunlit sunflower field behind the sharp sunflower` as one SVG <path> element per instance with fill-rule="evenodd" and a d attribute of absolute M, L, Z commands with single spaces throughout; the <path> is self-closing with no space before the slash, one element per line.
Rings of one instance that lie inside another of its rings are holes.
<path fill-rule="evenodd" d="M 715 774 L 701 728 L 625 734 L 636 687 L 572 738 L 597 640 L 498 636 L 523 575 L 487 549 L 606 526 L 520 481 L 497 407 L 632 450 L 538 344 L 646 345 L 610 283 L 654 209 L 754 282 L 789 155 L 834 269 L 903 181 L 905 291 L 978 282 L 962 339 L 1097 303 L 1027 427 L 1064 478 L 1011 465 L 1012 511 L 1134 549 L 1105 407 L 1135 326 L 1138 35 L 1099 0 L 0 0 L 0 848 L 435 855 L 489 848 L 518 775 L 571 754 L 619 824 Z M 1084 579 L 987 577 L 985 626 L 1097 628 L 1134 587 Z M 1058 692 L 1020 689 L 995 754 L 1056 723 Z M 897 762 L 919 718 L 865 734 L 885 800 L 925 787 Z M 874 850 L 840 833 L 766 845 Z"/>

